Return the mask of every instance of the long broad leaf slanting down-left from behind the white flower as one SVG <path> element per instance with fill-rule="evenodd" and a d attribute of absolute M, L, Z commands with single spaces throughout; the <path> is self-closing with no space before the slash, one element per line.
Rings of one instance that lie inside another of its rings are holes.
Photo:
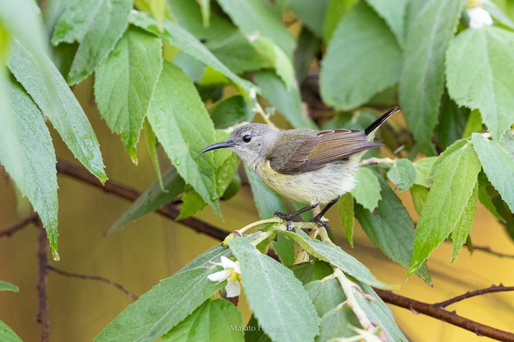
<path fill-rule="evenodd" d="M 232 253 L 221 244 L 216 245 L 161 280 L 116 316 L 95 337 L 95 342 L 153 342 L 167 333 L 226 284 L 207 279 L 209 274 L 222 270 L 211 263 L 219 262 L 222 255 L 231 257 Z"/>

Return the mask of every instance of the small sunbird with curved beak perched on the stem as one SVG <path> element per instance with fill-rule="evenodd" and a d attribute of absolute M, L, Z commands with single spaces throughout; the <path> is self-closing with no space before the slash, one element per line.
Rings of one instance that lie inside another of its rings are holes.
<path fill-rule="evenodd" d="M 383 146 L 374 142 L 380 125 L 399 112 L 393 107 L 362 131 L 349 129 L 290 129 L 276 131 L 264 124 L 246 124 L 236 128 L 221 143 L 212 144 L 200 154 L 228 148 L 280 195 L 310 205 L 291 214 L 276 216 L 287 221 L 319 204 L 323 210 L 310 221 L 326 229 L 321 218 L 341 195 L 355 187 L 355 171 L 366 150 Z"/>

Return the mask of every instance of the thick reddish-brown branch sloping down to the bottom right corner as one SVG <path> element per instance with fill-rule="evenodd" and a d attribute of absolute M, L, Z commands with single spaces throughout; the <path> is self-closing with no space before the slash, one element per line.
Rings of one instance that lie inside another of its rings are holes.
<path fill-rule="evenodd" d="M 459 316 L 454 312 L 438 308 L 433 304 L 404 297 L 391 291 L 376 288 L 373 288 L 373 290 L 375 290 L 378 296 L 386 303 L 409 309 L 414 313 L 422 313 L 437 318 L 451 325 L 472 331 L 479 336 L 487 336 L 499 341 L 514 342 L 513 333 L 486 326 L 474 320 Z"/>

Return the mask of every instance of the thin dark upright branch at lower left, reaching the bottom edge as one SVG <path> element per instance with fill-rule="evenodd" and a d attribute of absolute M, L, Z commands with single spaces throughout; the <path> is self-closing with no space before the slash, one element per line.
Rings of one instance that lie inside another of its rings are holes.
<path fill-rule="evenodd" d="M 38 297 L 39 297 L 39 312 L 38 323 L 41 324 L 40 342 L 48 342 L 50 337 L 50 329 L 48 324 L 48 303 L 46 301 L 46 275 L 48 274 L 48 263 L 46 259 L 46 231 L 43 223 L 39 218 L 36 218 L 36 225 L 38 225 L 38 261 L 39 261 L 39 274 L 38 274 Z"/>

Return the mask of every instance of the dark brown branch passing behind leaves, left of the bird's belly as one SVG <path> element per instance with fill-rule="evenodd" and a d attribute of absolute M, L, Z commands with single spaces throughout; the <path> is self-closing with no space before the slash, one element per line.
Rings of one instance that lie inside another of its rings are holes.
<path fill-rule="evenodd" d="M 102 185 L 100 183 L 100 181 L 93 174 L 91 174 L 89 171 L 87 171 L 85 168 L 68 164 L 67 162 L 64 162 L 63 160 L 58 160 L 57 172 L 66 174 L 68 176 L 72 176 L 74 178 L 82 180 L 82 182 L 85 182 L 85 183 L 93 185 L 97 188 L 100 188 L 105 192 L 114 193 L 120 197 L 131 200 L 132 202 L 134 202 L 140 195 L 139 192 L 137 192 L 136 190 L 133 190 L 133 189 L 127 188 L 125 186 L 110 182 L 109 180 L 107 180 L 107 182 L 105 182 L 105 184 Z M 177 208 L 175 208 L 173 205 L 164 206 L 156 211 L 159 214 L 166 216 L 168 218 L 171 218 L 173 220 L 175 220 L 177 218 L 178 214 L 180 213 L 180 211 Z M 194 229 L 198 233 L 207 234 L 207 235 L 212 236 L 221 241 L 223 241 L 225 239 L 225 237 L 229 234 L 229 232 L 219 229 L 217 227 L 214 227 L 214 226 L 208 224 L 207 222 L 204 222 L 195 217 L 187 217 L 187 218 L 184 218 L 181 220 L 177 220 L 177 222 Z"/>

